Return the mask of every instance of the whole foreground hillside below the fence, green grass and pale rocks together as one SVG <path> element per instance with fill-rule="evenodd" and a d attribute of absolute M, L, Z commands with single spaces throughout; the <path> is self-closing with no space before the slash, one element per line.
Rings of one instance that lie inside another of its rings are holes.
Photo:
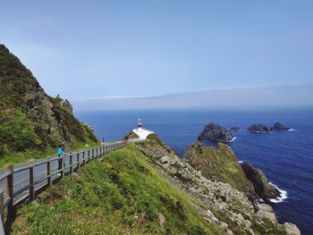
<path fill-rule="evenodd" d="M 271 206 L 258 207 L 151 134 L 21 206 L 13 234 L 300 234 L 292 223 L 279 224 Z"/>

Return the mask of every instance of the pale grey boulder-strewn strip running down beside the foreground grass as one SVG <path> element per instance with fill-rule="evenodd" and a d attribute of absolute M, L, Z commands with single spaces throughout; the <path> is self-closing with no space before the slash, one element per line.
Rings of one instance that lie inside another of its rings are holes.
<path fill-rule="evenodd" d="M 195 200 L 195 207 L 205 221 L 215 223 L 224 234 L 287 234 L 286 228 L 297 230 L 292 223 L 279 224 L 273 208 L 266 204 L 258 204 L 256 214 L 241 191 L 228 183 L 208 180 L 201 171 L 175 155 L 156 134 L 137 142 L 136 147 L 150 157 L 159 174 Z"/>

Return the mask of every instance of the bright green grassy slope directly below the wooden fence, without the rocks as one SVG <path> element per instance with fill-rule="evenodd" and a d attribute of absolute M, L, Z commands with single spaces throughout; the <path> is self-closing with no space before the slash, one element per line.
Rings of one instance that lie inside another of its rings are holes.
<path fill-rule="evenodd" d="M 64 177 L 21 206 L 13 234 L 220 234 L 145 158 L 130 145 Z"/>

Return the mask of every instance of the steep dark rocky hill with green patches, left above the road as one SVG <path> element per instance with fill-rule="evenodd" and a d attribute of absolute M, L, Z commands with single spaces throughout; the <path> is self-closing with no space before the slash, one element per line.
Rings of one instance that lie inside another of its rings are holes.
<path fill-rule="evenodd" d="M 72 105 L 49 97 L 32 73 L 0 45 L 0 157 L 7 153 L 97 143 L 72 115 Z"/>

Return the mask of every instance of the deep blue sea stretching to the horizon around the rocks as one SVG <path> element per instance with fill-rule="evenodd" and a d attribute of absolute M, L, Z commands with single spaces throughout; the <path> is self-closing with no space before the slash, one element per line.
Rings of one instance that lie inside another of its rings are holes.
<path fill-rule="evenodd" d="M 93 126 L 106 141 L 123 138 L 136 128 L 140 117 L 143 128 L 154 130 L 166 144 L 183 155 L 208 122 L 224 127 L 248 128 L 252 123 L 273 125 L 282 122 L 294 131 L 271 134 L 234 132 L 229 145 L 238 159 L 254 164 L 268 180 L 287 192 L 287 198 L 272 203 L 279 222 L 293 222 L 302 234 L 313 234 L 313 108 L 267 111 L 112 111 L 76 113 Z M 214 143 L 206 142 L 207 145 Z"/>

